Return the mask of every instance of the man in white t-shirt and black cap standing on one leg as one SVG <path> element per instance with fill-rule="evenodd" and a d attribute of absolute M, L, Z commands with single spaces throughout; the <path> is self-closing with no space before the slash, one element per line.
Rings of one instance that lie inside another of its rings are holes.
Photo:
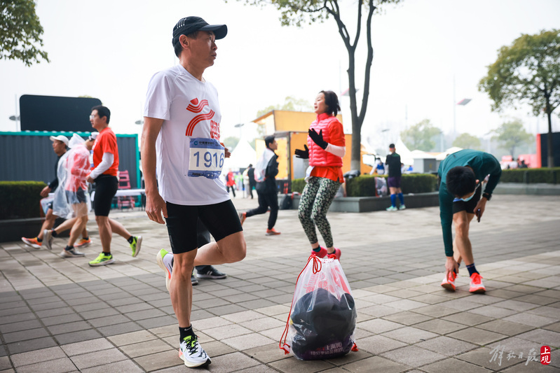
<path fill-rule="evenodd" d="M 172 38 L 179 64 L 151 78 L 144 107 L 146 213 L 157 223 L 167 223 L 173 265 L 162 252 L 158 265 L 169 275 L 179 321 L 179 357 L 187 367 L 211 363 L 191 326 L 193 267 L 238 262 L 246 252 L 238 214 L 219 178 L 225 153 L 219 143 L 218 93 L 203 78 L 217 57 L 216 39 L 226 34 L 225 24 L 210 25 L 200 17 L 179 20 Z M 198 247 L 198 219 L 216 242 Z"/>

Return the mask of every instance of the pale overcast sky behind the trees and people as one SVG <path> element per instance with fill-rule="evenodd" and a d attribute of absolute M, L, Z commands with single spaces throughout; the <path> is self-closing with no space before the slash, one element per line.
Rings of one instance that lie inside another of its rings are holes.
<path fill-rule="evenodd" d="M 356 1 L 341 3 L 353 34 Z M 205 72 L 219 92 L 222 136 L 239 136 L 233 126 L 247 123 L 243 131 L 252 137 L 248 123 L 257 111 L 282 104 L 287 96 L 311 104 L 320 90 L 348 87 L 348 55 L 332 19 L 300 29 L 280 27 L 275 8 L 235 0 L 38 0 L 36 12 L 51 62 L 26 67 L 0 61 L 0 131 L 16 130 L 8 117 L 19 111 L 22 94 L 86 94 L 111 109 L 115 132 L 139 133 L 134 122 L 142 119 L 149 79 L 178 63 L 172 28 L 188 15 L 228 25 L 226 38 L 217 41 L 216 62 Z M 388 6 L 374 17 L 375 57 L 362 134 L 374 146 L 395 141 L 402 129 L 425 118 L 451 132 L 453 108 L 458 133 L 483 136 L 510 118 L 524 120 L 529 132 L 546 132 L 545 117 L 528 115 L 528 108 L 492 113 L 477 84 L 498 48 L 521 34 L 560 28 L 559 15 L 558 0 L 404 0 Z M 360 47 L 359 102 L 365 38 Z M 455 106 L 464 98 L 472 101 Z M 341 104 L 350 132 L 348 97 L 341 97 Z M 553 129 L 560 131 L 558 116 L 554 120 Z"/>

